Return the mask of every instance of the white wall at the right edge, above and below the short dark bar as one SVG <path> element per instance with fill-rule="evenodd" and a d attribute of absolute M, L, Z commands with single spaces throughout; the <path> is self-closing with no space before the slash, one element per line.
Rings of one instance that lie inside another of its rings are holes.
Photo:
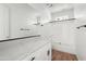
<path fill-rule="evenodd" d="M 86 3 L 75 4 L 76 27 L 86 25 Z M 78 60 L 86 61 L 86 28 L 76 29 L 76 53 Z"/>

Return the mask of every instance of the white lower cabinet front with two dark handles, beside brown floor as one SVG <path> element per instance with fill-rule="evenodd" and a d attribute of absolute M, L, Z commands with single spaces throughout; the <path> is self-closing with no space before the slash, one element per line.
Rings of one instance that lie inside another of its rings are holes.
<path fill-rule="evenodd" d="M 46 43 L 38 48 L 32 54 L 27 54 L 22 61 L 50 61 L 51 60 L 51 44 Z"/>

